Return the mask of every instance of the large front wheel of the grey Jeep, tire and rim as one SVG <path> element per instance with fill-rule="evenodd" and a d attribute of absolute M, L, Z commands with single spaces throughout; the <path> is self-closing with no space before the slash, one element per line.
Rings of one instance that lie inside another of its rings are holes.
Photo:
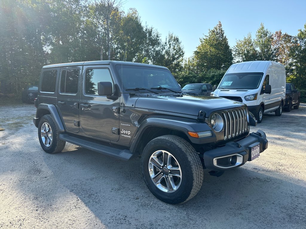
<path fill-rule="evenodd" d="M 144 147 L 141 172 L 151 193 L 169 204 L 190 200 L 203 182 L 203 167 L 196 150 L 174 135 L 157 137 Z"/>

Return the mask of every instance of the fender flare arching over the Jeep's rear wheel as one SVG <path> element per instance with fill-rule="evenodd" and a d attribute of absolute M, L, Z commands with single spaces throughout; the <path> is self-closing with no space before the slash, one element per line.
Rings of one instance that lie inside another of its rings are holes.
<path fill-rule="evenodd" d="M 41 110 L 48 110 L 50 112 L 50 114 L 52 115 L 57 127 L 58 127 L 58 131 L 60 133 L 64 133 L 65 132 L 65 128 L 64 128 L 64 124 L 62 122 L 61 116 L 58 113 L 58 109 L 56 108 L 56 106 L 54 104 L 39 104 L 37 106 L 37 110 L 36 110 L 36 117 L 33 118 L 33 122 L 35 124 L 36 127 L 38 127 L 38 122 L 39 122 L 39 112 Z"/>

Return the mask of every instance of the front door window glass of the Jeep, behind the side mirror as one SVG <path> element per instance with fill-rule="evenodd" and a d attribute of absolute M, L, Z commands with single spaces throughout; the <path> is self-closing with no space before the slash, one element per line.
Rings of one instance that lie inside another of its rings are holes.
<path fill-rule="evenodd" d="M 87 69 L 85 76 L 85 94 L 98 95 L 98 82 L 111 82 L 114 87 L 110 71 L 107 68 Z"/>

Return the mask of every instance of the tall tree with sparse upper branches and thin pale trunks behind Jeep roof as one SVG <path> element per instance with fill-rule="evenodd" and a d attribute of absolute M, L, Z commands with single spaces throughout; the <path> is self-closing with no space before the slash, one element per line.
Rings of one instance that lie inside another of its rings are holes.
<path fill-rule="evenodd" d="M 99 25 L 101 33 L 101 53 L 100 60 L 103 60 L 103 40 L 106 38 L 107 59 L 110 60 L 110 51 L 112 42 L 119 37 L 121 28 L 121 0 L 95 0 L 92 5 L 89 5 L 89 12 Z"/>

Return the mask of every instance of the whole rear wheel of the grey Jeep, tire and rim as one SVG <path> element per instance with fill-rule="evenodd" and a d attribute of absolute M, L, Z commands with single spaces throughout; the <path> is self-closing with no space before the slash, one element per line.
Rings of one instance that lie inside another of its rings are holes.
<path fill-rule="evenodd" d="M 43 150 L 49 154 L 61 152 L 66 142 L 59 139 L 59 131 L 51 115 L 44 115 L 38 124 L 38 138 Z"/>

